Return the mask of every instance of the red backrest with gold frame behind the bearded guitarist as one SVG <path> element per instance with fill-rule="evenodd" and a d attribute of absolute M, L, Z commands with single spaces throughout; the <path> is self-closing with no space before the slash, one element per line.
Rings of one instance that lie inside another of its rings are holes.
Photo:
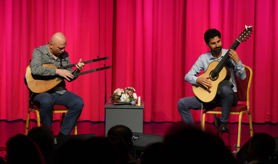
<path fill-rule="evenodd" d="M 247 101 L 247 106 L 249 107 L 249 90 L 252 80 L 252 69 L 247 65 L 244 65 L 246 71 L 246 78 L 244 80 L 240 80 L 237 75 L 235 75 L 235 82 L 237 84 L 237 98 L 239 101 Z"/>

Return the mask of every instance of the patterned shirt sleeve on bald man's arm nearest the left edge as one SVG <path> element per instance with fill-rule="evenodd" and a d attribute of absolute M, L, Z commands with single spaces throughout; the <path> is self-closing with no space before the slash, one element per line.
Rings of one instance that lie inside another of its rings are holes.
<path fill-rule="evenodd" d="M 32 60 L 30 63 L 30 68 L 31 72 L 34 75 L 42 75 L 42 76 L 53 76 L 56 74 L 56 69 L 55 68 L 48 68 L 48 67 L 43 67 L 43 59 L 42 59 L 42 53 L 34 49 L 33 50 L 33 55 L 32 55 Z"/>

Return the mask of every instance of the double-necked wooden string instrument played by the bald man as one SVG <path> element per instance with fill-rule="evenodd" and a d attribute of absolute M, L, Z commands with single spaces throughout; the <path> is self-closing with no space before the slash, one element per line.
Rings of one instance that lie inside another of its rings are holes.
<path fill-rule="evenodd" d="M 93 60 L 88 60 L 83 62 L 84 64 L 91 63 L 91 62 L 96 62 L 96 61 L 101 61 L 101 60 L 106 60 L 109 59 L 109 57 L 103 57 L 103 58 L 98 58 L 98 59 L 93 59 Z M 76 63 L 77 64 L 77 63 Z M 43 67 L 49 67 L 49 68 L 57 68 L 57 69 L 67 69 L 70 67 L 74 67 L 75 64 L 70 64 L 70 65 L 65 65 L 62 67 L 56 67 L 54 65 L 48 65 L 48 64 L 43 64 Z M 88 74 L 91 72 L 96 72 L 104 69 L 112 68 L 112 66 L 107 66 L 107 67 L 101 67 L 98 69 L 92 69 L 92 70 L 87 70 L 84 72 L 76 73 L 73 74 L 74 76 L 79 76 L 79 75 L 84 75 Z M 31 68 L 28 68 L 25 74 L 24 78 L 24 83 L 27 85 L 27 87 L 34 93 L 41 93 L 41 92 L 46 92 L 53 87 L 55 87 L 57 84 L 59 84 L 64 78 L 54 75 L 54 76 L 39 76 L 39 75 L 33 75 L 31 73 Z"/>

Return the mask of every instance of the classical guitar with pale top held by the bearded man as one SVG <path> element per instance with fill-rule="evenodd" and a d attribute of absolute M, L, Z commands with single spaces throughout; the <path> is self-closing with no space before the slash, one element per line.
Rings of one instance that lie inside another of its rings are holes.
<path fill-rule="evenodd" d="M 234 44 L 229 48 L 230 49 L 237 49 L 239 44 L 246 39 L 249 39 L 248 36 L 252 34 L 252 25 L 247 27 L 245 26 L 244 31 L 239 35 L 239 37 L 235 40 Z M 212 87 L 207 89 L 201 84 L 193 84 L 192 89 L 194 94 L 200 99 L 202 102 L 207 103 L 215 103 L 217 101 L 217 88 L 223 80 L 229 80 L 231 77 L 231 72 L 229 67 L 226 66 L 226 63 L 230 59 L 228 55 L 229 51 L 224 55 L 220 62 L 213 61 L 209 64 L 206 72 L 199 75 L 198 77 L 210 76 L 210 80 L 212 82 Z"/>

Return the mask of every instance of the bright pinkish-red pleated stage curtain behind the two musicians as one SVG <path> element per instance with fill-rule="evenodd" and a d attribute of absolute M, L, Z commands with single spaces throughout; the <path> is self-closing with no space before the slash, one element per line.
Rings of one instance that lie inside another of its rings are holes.
<path fill-rule="evenodd" d="M 250 110 L 254 122 L 277 123 L 278 2 L 272 0 L 2 0 L 0 1 L 0 119 L 26 119 L 28 90 L 23 84 L 32 50 L 58 31 L 65 34 L 71 63 L 109 56 L 85 65 L 84 71 L 112 69 L 80 76 L 67 83 L 85 102 L 79 120 L 104 121 L 105 95 L 134 87 L 145 101 L 144 121 L 181 121 L 180 98 L 193 96 L 184 76 L 198 56 L 209 51 L 203 33 L 216 28 L 228 49 L 244 25 L 253 25 L 237 52 L 253 69 Z M 192 111 L 196 122 L 200 111 Z M 123 116 L 124 117 L 124 116 Z M 34 117 L 32 117 L 34 118 Z M 54 116 L 54 119 L 59 119 Z M 212 117 L 207 117 L 212 122 Z M 248 122 L 247 117 L 243 118 Z M 238 122 L 230 116 L 229 122 Z"/>

